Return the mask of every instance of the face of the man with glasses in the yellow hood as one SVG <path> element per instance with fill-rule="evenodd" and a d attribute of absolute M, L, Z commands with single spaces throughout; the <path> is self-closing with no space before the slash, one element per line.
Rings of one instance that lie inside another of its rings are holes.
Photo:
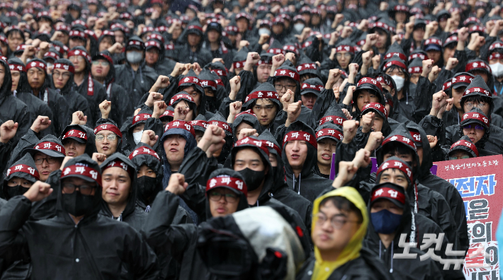
<path fill-rule="evenodd" d="M 321 223 L 320 220 L 324 223 Z M 332 221 L 335 224 L 342 223 L 343 225 L 341 228 L 335 228 L 332 226 Z M 357 221 L 358 216 L 354 212 L 340 211 L 333 202 L 328 201 L 320 206 L 320 212 L 317 214 L 317 221 L 312 231 L 312 241 L 321 252 L 341 252 L 360 228 L 361 223 L 357 223 Z"/>

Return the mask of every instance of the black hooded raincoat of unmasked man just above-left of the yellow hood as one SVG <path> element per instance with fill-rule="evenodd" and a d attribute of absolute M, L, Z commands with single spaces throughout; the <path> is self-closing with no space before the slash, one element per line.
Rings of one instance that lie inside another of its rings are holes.
<path fill-rule="evenodd" d="M 305 158 L 302 171 L 298 177 L 295 177 L 292 167 L 290 166 L 290 163 L 288 163 L 288 157 L 285 151 L 285 146 L 288 141 L 283 141 L 286 134 L 290 132 L 307 133 L 309 137 L 312 137 L 312 141 L 316 143 L 315 132 L 311 127 L 307 126 L 307 124 L 300 121 L 293 122 L 288 128 L 284 126 L 280 127 L 276 132 L 276 141 L 281 143 L 283 147 L 281 159 L 283 160 L 283 163 L 285 163 L 286 182 L 288 187 L 305 197 L 310 202 L 314 202 L 316 197 L 318 197 L 324 189 L 332 187 L 332 180 L 315 175 L 314 168 L 317 162 L 317 147 L 312 146 L 309 143 L 306 143 L 307 156 Z"/>

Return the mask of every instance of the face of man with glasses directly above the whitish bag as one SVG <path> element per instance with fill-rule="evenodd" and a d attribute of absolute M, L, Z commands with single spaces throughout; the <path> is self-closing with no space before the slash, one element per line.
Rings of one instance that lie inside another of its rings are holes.
<path fill-rule="evenodd" d="M 231 189 L 215 187 L 208 191 L 211 216 L 222 217 L 237 211 L 239 196 Z"/>

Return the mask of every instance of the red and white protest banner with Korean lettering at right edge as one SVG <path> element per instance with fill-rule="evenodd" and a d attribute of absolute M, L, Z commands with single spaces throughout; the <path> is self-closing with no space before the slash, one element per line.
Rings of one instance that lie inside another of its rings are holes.
<path fill-rule="evenodd" d="M 465 202 L 470 248 L 465 256 L 466 279 L 499 279 L 496 231 L 502 213 L 502 155 L 436 162 L 436 175 L 451 182 Z"/>

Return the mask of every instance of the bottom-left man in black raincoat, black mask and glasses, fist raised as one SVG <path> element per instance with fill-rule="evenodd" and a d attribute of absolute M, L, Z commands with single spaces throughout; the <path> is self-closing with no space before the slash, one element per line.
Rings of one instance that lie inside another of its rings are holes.
<path fill-rule="evenodd" d="M 61 177 L 52 185 L 35 182 L 23 196 L 13 197 L 1 208 L 0 224 L 5 232 L 0 238 L 1 257 L 27 244 L 35 279 L 72 275 L 114 278 L 121 273 L 120 264 L 125 264 L 132 276 L 155 279 L 157 257 L 142 235 L 126 223 L 98 215 L 102 202 L 98 164 L 89 156 L 79 156 L 64 164 L 59 173 Z M 53 191 L 57 216 L 28 221 L 32 202 Z M 59 257 L 41 257 L 47 254 Z M 47 271 L 47 266 L 58 269 Z"/>

